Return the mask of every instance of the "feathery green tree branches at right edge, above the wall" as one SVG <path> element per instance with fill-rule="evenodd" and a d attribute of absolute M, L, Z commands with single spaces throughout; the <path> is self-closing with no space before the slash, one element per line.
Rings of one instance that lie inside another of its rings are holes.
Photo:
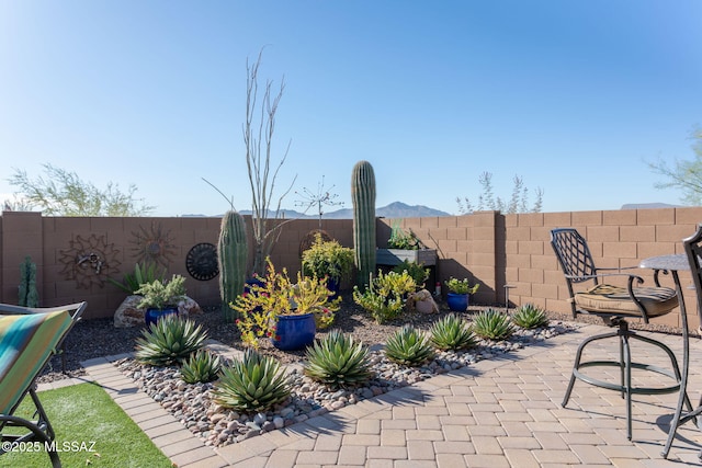
<path fill-rule="evenodd" d="M 665 161 L 649 162 L 648 167 L 668 179 L 667 182 L 655 184 L 656 189 L 680 189 L 684 205 L 702 205 L 702 127 L 692 129 L 690 138 L 693 140 L 692 151 L 694 158 L 691 161 L 675 161 L 671 168 Z"/>

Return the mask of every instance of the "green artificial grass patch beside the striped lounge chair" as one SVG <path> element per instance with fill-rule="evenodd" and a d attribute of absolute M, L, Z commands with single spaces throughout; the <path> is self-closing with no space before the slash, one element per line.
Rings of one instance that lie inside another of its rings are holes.
<path fill-rule="evenodd" d="M 38 396 L 56 432 L 56 446 L 67 450 L 58 454 L 64 467 L 172 466 L 100 386 L 79 384 L 42 391 Z M 32 419 L 33 408 L 27 397 L 16 414 Z M 0 456 L 0 467 L 50 466 L 43 448 L 38 453 L 14 452 Z"/>

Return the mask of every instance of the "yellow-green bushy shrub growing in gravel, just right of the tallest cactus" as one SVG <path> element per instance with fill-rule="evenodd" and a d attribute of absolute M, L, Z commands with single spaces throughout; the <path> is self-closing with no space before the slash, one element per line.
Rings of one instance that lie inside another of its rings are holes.
<path fill-rule="evenodd" d="M 416 288 L 415 281 L 407 272 L 383 274 L 378 271 L 363 293 L 358 286 L 353 287 L 353 300 L 371 312 L 377 323 L 384 323 L 399 316 L 406 296 Z"/>

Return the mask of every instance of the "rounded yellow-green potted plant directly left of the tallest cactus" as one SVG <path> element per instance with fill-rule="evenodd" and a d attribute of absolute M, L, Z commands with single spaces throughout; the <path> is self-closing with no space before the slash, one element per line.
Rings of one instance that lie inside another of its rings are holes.
<path fill-rule="evenodd" d="M 353 249 L 342 247 L 336 240 L 325 241 L 321 233 L 315 235 L 315 242 L 303 252 L 303 274 L 327 278 L 329 289 L 338 295 L 341 281 L 353 269 Z"/>

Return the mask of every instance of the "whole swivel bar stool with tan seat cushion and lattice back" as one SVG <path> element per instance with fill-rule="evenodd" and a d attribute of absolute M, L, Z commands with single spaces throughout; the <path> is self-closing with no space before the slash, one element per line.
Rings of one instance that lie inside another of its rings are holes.
<path fill-rule="evenodd" d="M 631 441 L 632 396 L 677 392 L 680 389 L 681 375 L 678 361 L 672 351 L 657 340 L 630 330 L 626 320 L 636 319 L 648 323 L 648 320 L 654 317 L 660 317 L 671 312 L 678 306 L 676 290 L 669 287 L 661 287 L 658 281 L 658 273 L 656 273 L 655 276 L 655 286 L 642 286 L 644 279 L 641 276 L 625 272 L 625 270 L 638 270 L 638 266 L 598 269 L 595 265 L 586 240 L 576 229 L 553 229 L 551 231 L 551 244 L 565 274 L 573 318 L 576 318 L 578 313 L 588 313 L 602 318 L 609 327 L 618 327 L 616 331 L 589 336 L 580 343 L 576 352 L 570 381 L 562 404 L 563 407 L 568 404 L 576 379 L 621 392 L 622 398 L 626 400 L 626 436 Z M 625 282 L 626 286 L 604 283 L 605 281 L 618 277 L 623 277 L 624 281 L 622 281 L 622 283 Z M 581 283 L 585 283 L 585 287 L 576 290 L 575 285 Z M 618 359 L 582 361 L 582 353 L 586 346 L 611 338 L 615 338 L 619 341 Z M 646 363 L 633 362 L 630 351 L 630 340 L 637 340 L 663 350 L 670 358 L 671 367 L 663 368 Z M 619 367 L 619 381 L 593 378 L 581 370 L 597 366 Z M 632 386 L 632 369 L 643 369 L 661 374 L 670 377 L 675 383 L 660 387 L 634 387 Z M 689 399 L 687 399 L 687 406 L 689 407 Z"/>

